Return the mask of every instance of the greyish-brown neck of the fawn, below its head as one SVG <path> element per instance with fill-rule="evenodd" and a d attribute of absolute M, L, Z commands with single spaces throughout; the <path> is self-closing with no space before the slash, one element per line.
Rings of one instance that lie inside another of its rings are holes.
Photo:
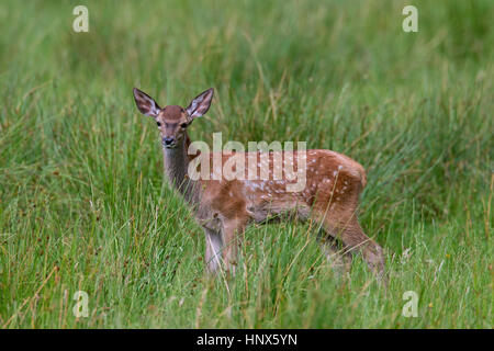
<path fill-rule="evenodd" d="M 191 202 L 194 201 L 194 185 L 195 182 L 187 177 L 189 169 L 189 156 L 188 148 L 190 145 L 189 136 L 186 136 L 177 144 L 176 148 L 164 148 L 164 165 L 165 173 L 168 182 L 175 189 L 177 189 L 183 197 Z"/>

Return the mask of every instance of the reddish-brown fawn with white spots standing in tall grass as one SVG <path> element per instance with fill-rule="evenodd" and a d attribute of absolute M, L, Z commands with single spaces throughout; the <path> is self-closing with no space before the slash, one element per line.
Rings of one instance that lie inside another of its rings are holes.
<path fill-rule="evenodd" d="M 187 109 L 178 105 L 161 109 L 135 88 L 134 98 L 141 113 L 155 118 L 158 125 L 168 181 L 192 206 L 204 229 L 205 262 L 211 272 L 217 271 L 222 262 L 227 271 L 235 272 L 237 246 L 242 242 L 239 236 L 247 225 L 291 216 L 301 220 L 315 219 L 326 233 L 323 246 L 328 253 L 335 252 L 334 240 L 339 239 L 347 252 L 361 252 L 369 268 L 381 276 L 384 270 L 382 248 L 363 234 L 357 220 L 359 194 L 366 186 L 366 171 L 358 162 L 330 150 L 307 150 L 303 155 L 305 186 L 295 192 L 287 191 L 290 183 L 287 177 L 278 181 L 227 180 L 224 177 L 193 180 L 188 169 L 197 156 L 188 152 L 191 141 L 187 128 L 194 118 L 207 112 L 213 89 L 198 95 Z M 291 151 L 292 158 L 285 155 L 288 151 L 281 152 L 285 162 L 294 163 L 293 154 L 300 150 Z M 233 155 L 247 159 L 252 156 L 249 154 L 222 152 L 220 157 L 224 165 Z M 272 174 L 277 170 L 276 152 L 267 156 L 267 161 L 265 158 L 257 163 L 256 172 L 268 169 Z M 213 159 L 214 156 L 207 157 Z"/>

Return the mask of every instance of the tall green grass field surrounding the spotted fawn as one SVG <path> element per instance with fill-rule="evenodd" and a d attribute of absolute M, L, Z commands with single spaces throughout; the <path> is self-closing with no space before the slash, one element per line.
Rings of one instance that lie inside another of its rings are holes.
<path fill-rule="evenodd" d="M 414 1 L 417 33 L 405 4 L 2 1 L 0 326 L 493 328 L 494 3 Z M 295 223 L 250 227 L 237 274 L 209 279 L 133 87 L 161 105 L 214 87 L 193 140 L 302 140 L 362 163 L 388 290 L 359 257 L 336 274 Z"/>

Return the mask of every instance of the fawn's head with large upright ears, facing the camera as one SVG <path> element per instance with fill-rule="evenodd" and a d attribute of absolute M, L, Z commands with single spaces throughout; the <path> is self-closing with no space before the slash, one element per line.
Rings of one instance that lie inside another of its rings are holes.
<path fill-rule="evenodd" d="M 197 117 L 204 115 L 213 100 L 213 88 L 195 97 L 187 109 L 179 105 L 159 107 L 145 92 L 134 88 L 134 100 L 142 114 L 155 118 L 165 148 L 172 149 L 184 139 L 187 127 Z"/>

